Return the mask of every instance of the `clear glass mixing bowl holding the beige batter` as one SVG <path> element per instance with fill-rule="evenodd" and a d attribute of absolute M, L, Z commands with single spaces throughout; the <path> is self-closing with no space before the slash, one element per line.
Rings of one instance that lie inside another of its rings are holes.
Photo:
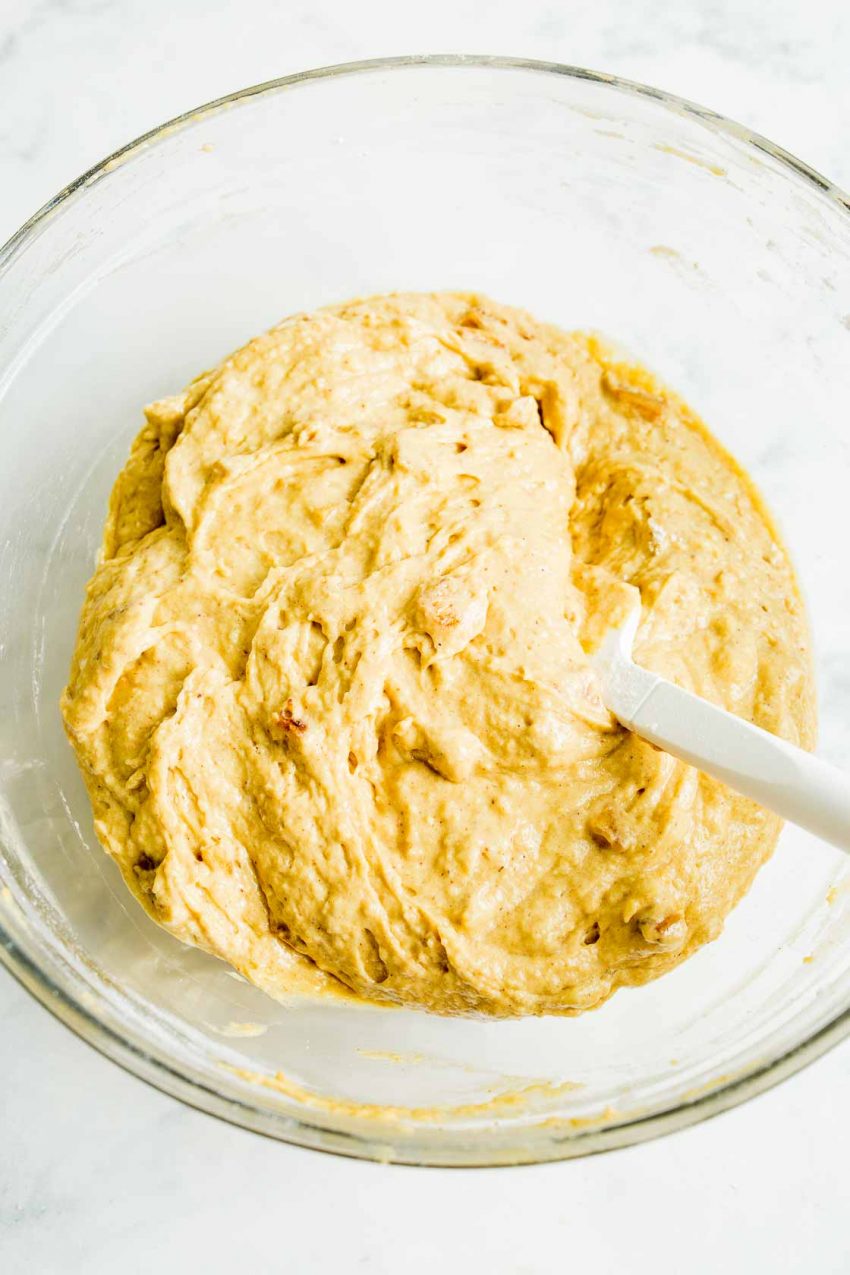
<path fill-rule="evenodd" d="M 83 588 L 141 404 L 293 310 L 395 288 L 480 289 L 600 329 L 691 400 L 785 532 L 822 752 L 850 764 L 846 200 L 716 115 L 581 70 L 312 71 L 149 134 L 3 252 L 0 952 L 110 1057 L 275 1137 L 428 1164 L 622 1146 L 850 1030 L 837 852 L 788 829 L 717 942 L 579 1019 L 282 1006 L 148 921 L 94 839 L 62 734 Z"/>

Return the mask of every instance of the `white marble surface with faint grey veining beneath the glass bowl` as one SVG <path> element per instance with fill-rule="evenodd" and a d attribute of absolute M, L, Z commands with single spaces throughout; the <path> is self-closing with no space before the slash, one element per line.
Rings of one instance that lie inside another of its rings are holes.
<path fill-rule="evenodd" d="M 0 0 L 0 238 L 186 107 L 409 51 L 526 55 L 724 111 L 850 186 L 842 0 Z M 124 1075 L 0 975 L 0 1270 L 850 1271 L 850 1046 L 674 1137 L 537 1169 L 357 1164 Z"/>

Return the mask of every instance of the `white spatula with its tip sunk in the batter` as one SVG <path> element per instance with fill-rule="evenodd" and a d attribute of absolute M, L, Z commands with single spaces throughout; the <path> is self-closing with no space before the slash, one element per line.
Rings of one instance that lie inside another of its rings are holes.
<path fill-rule="evenodd" d="M 636 664 L 640 618 L 637 603 L 594 655 L 605 708 L 642 740 L 850 853 L 850 778 Z"/>

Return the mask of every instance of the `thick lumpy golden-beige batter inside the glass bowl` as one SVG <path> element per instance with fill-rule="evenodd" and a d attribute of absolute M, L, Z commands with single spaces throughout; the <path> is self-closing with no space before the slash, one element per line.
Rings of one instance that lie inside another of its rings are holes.
<path fill-rule="evenodd" d="M 64 697 L 149 912 L 273 994 L 573 1012 L 721 929 L 779 821 L 619 728 L 587 652 L 813 741 L 753 488 L 593 338 L 475 296 L 298 315 L 154 403 Z"/>

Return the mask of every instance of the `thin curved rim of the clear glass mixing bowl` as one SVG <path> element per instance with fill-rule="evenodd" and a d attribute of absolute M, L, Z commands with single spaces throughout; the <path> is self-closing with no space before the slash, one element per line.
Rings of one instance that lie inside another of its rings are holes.
<path fill-rule="evenodd" d="M 674 93 L 618 75 L 539 59 L 478 54 L 412 54 L 296 71 L 227 93 L 157 125 L 88 168 L 34 212 L 0 247 L 0 275 L 42 223 L 55 215 L 62 205 L 116 168 L 131 162 L 143 149 L 164 140 L 175 131 L 206 116 L 218 115 L 236 102 L 274 94 L 294 85 L 368 71 L 409 70 L 418 66 L 537 71 L 587 80 L 619 91 L 627 97 L 651 98 L 674 113 L 696 117 L 710 131 L 767 154 L 782 168 L 813 186 L 819 196 L 835 204 L 841 213 L 850 214 L 850 196 L 809 164 L 744 125 Z M 492 1130 L 423 1125 L 412 1131 L 409 1127 L 395 1130 L 393 1126 L 376 1122 L 373 1132 L 352 1133 L 335 1125 L 333 1117 L 322 1118 L 320 1111 L 305 1104 L 293 1104 L 298 1111 L 297 1116 L 260 1108 L 233 1093 L 226 1094 L 212 1088 L 200 1076 L 191 1076 L 175 1067 L 164 1056 L 158 1056 L 145 1047 L 144 1042 L 134 1039 L 126 1031 L 116 1030 L 106 1017 L 98 1016 L 90 1003 L 93 1000 L 90 991 L 85 996 L 75 994 L 74 984 L 79 983 L 79 975 L 73 968 L 60 969 L 57 961 L 50 958 L 40 963 L 33 955 L 34 945 L 27 942 L 25 928 L 15 924 L 14 913 L 10 913 L 9 921 L 10 928 L 0 922 L 0 964 L 75 1035 L 117 1062 L 125 1071 L 190 1107 L 242 1128 L 298 1146 L 381 1163 L 441 1167 L 516 1165 L 563 1160 L 631 1146 L 687 1128 L 754 1098 L 814 1062 L 850 1035 L 849 1005 L 791 1049 L 775 1057 L 761 1058 L 744 1072 L 720 1080 L 709 1091 L 646 1116 L 626 1116 L 618 1119 L 614 1114 L 608 1122 L 600 1121 L 593 1127 L 535 1130 L 534 1123 L 517 1125 L 511 1131 L 500 1131 L 501 1136 L 496 1140 L 492 1137 Z M 52 965 L 51 973 L 46 969 L 48 964 Z M 539 1118 L 533 1117 L 534 1119 Z M 508 1145 L 510 1136 L 506 1139 L 506 1133 L 514 1135 L 514 1146 Z"/>

